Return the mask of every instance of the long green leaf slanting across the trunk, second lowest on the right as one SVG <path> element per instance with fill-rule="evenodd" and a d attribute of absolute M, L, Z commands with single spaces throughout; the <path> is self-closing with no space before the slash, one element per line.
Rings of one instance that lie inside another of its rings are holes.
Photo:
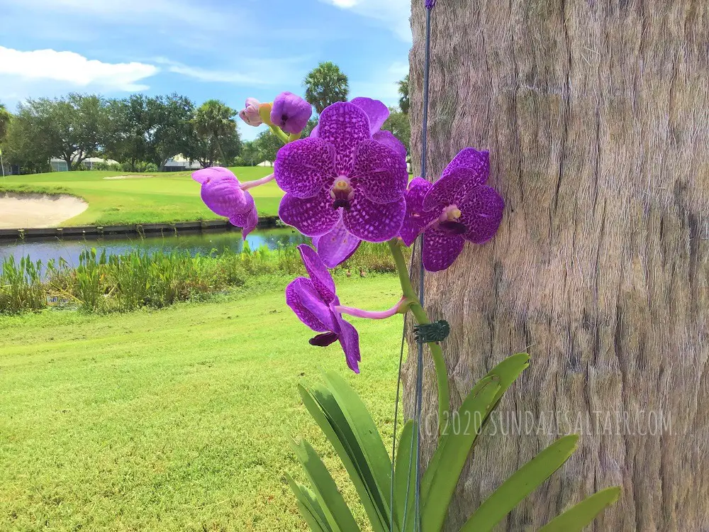
<path fill-rule="evenodd" d="M 487 532 L 564 465 L 576 450 L 579 436 L 559 438 L 515 472 L 488 497 L 468 519 L 460 532 Z"/>

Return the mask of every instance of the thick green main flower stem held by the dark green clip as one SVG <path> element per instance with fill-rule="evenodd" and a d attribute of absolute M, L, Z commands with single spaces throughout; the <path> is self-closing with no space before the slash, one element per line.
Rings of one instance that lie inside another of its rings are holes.
<path fill-rule="evenodd" d="M 426 315 L 426 311 L 418 302 L 418 296 L 414 292 L 411 279 L 408 277 L 408 267 L 406 265 L 406 259 L 404 258 L 403 253 L 401 253 L 401 244 L 399 243 L 399 240 L 397 238 L 389 240 L 389 248 L 391 249 L 391 255 L 393 255 L 394 262 L 396 263 L 396 270 L 398 272 L 399 281 L 401 282 L 403 297 L 408 301 L 411 301 L 411 314 L 413 314 L 413 317 L 419 325 L 430 323 L 430 320 Z M 445 423 L 448 419 L 448 411 L 450 411 L 448 372 L 446 370 L 445 359 L 443 358 L 443 352 L 440 344 L 429 343 L 428 347 L 431 350 L 431 356 L 433 357 L 433 364 L 436 370 L 436 380 L 438 384 L 438 434 L 439 436 L 442 436 Z"/>

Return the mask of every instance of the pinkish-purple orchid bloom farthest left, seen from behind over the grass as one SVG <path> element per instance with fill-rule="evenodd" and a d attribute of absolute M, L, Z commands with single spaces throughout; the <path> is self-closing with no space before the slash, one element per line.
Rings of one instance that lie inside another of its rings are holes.
<path fill-rule="evenodd" d="M 226 216 L 233 226 L 242 228 L 243 238 L 256 228 L 259 216 L 254 199 L 230 170 L 218 166 L 203 168 L 193 172 L 192 179 L 202 185 L 204 204 L 214 214 Z"/>

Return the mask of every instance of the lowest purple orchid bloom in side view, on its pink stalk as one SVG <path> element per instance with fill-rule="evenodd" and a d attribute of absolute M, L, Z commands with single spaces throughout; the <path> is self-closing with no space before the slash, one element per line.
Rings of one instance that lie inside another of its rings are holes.
<path fill-rule="evenodd" d="M 389 318 L 406 309 L 406 300 L 402 298 L 393 308 L 379 312 L 342 306 L 335 293 L 333 276 L 315 250 L 301 244 L 298 251 L 301 253 L 308 277 L 298 277 L 286 287 L 286 304 L 300 321 L 320 333 L 311 338 L 311 345 L 327 347 L 339 341 L 345 352 L 347 365 L 352 371 L 359 373 L 359 333 L 351 323 L 342 318 L 342 314 L 359 318 Z"/>

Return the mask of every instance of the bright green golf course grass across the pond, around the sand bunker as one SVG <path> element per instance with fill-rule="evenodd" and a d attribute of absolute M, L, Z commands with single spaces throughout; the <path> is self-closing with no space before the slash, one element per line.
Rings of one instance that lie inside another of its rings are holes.
<path fill-rule="evenodd" d="M 269 167 L 231 169 L 241 181 L 273 172 Z M 131 179 L 105 179 L 121 175 Z M 80 196 L 89 208 L 64 226 L 168 223 L 219 218 L 204 206 L 199 183 L 189 172 L 130 174 L 127 172 L 50 172 L 0 178 L 0 192 L 65 193 Z M 272 182 L 252 189 L 262 216 L 276 216 L 283 192 Z"/>

